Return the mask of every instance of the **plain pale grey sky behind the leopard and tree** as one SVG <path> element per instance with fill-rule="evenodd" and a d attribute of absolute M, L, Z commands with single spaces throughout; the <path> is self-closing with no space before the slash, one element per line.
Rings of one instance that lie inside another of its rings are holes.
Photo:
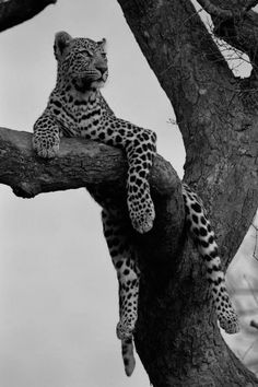
<path fill-rule="evenodd" d="M 157 150 L 183 176 L 173 108 L 115 0 L 59 0 L 0 34 L 0 126 L 31 131 L 56 81 L 54 35 L 107 39 L 103 90 L 118 117 L 156 131 Z M 146 387 L 137 359 L 124 374 L 117 280 L 101 209 L 84 189 L 24 200 L 0 186 L 0 385 Z"/>

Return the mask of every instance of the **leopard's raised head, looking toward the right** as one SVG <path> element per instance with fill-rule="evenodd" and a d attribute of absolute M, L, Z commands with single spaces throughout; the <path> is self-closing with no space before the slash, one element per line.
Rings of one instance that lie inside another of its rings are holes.
<path fill-rule="evenodd" d="M 58 81 L 69 82 L 81 93 L 99 89 L 108 75 L 105 43 L 56 34 L 54 52 L 58 62 Z"/>

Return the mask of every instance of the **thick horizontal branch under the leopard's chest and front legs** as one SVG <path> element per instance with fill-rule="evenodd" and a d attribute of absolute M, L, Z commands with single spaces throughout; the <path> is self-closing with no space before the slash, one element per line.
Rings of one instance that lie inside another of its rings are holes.
<path fill-rule="evenodd" d="M 83 139 L 62 139 L 54 160 L 36 159 L 32 134 L 0 128 L 0 183 L 15 195 L 32 198 L 42 192 L 102 185 L 116 196 L 125 194 L 127 161 L 112 146 Z M 171 196 L 178 184 L 175 171 L 156 156 L 151 174 L 154 195 Z"/>

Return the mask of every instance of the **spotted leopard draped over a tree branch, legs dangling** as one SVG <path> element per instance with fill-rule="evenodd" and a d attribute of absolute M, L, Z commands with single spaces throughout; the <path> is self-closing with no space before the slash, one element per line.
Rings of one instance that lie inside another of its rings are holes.
<path fill-rule="evenodd" d="M 101 93 L 108 78 L 106 39 L 72 37 L 58 32 L 54 42 L 57 81 L 47 107 L 34 124 L 33 149 L 36 156 L 58 156 L 60 141 L 84 138 L 121 149 L 127 157 L 127 208 L 132 228 L 144 234 L 155 220 L 149 176 L 156 155 L 156 134 L 116 117 Z M 237 315 L 225 288 L 224 273 L 214 232 L 198 195 L 181 184 L 186 225 L 207 266 L 212 300 L 221 328 L 227 333 L 239 330 Z M 118 279 L 119 321 L 116 332 L 121 340 L 125 372 L 136 366 L 133 335 L 138 319 L 141 272 L 137 247 L 125 231 L 118 208 L 103 203 L 104 236 Z"/>

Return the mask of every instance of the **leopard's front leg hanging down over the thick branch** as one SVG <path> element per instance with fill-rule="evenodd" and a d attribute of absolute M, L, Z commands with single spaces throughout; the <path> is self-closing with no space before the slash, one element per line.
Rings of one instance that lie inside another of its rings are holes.
<path fill-rule="evenodd" d="M 133 228 L 149 232 L 155 219 L 149 175 L 156 153 L 156 134 L 124 119 L 108 116 L 103 126 L 108 136 L 103 142 L 125 150 L 128 160 L 127 204 Z"/>

